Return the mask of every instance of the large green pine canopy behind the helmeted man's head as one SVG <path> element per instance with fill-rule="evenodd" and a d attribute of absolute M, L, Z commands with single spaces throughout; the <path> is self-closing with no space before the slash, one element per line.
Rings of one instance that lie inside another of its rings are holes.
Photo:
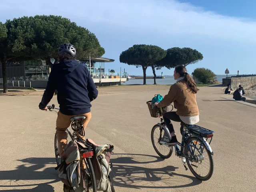
<path fill-rule="evenodd" d="M 58 62 L 58 47 L 63 43 L 73 44 L 77 51 L 76 58 L 79 59 L 89 58 L 89 55 L 92 58 L 99 57 L 105 53 L 95 34 L 61 16 L 24 16 L 0 24 L 2 63 L 15 59 L 40 58 L 51 66 L 50 58 Z M 2 64 L 3 76 L 4 68 L 6 64 Z M 4 81 L 7 90 L 7 76 Z"/>

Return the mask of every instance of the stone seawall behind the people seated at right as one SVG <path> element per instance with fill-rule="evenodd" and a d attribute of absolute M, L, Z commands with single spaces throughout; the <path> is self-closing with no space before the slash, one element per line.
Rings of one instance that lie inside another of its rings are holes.
<path fill-rule="evenodd" d="M 256 87 L 256 76 L 238 77 L 238 78 L 224 78 L 222 79 L 222 86 L 228 86 L 231 83 L 232 89 L 236 90 L 239 85 L 246 90 Z"/>

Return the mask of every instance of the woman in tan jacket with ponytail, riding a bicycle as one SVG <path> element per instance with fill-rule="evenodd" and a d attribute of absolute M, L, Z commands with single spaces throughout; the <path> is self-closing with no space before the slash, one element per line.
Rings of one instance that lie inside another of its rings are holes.
<path fill-rule="evenodd" d="M 182 133 L 183 125 L 196 124 L 199 122 L 199 110 L 196 103 L 196 93 L 198 88 L 192 77 L 187 73 L 184 66 L 177 66 L 174 70 L 175 84 L 170 87 L 166 96 L 159 103 L 155 103 L 157 107 L 164 107 L 174 102 L 176 112 L 166 112 L 163 114 L 164 122 L 172 136 L 168 144 L 177 144 L 178 140 L 172 125 L 172 121 L 181 122 L 180 131 Z"/>

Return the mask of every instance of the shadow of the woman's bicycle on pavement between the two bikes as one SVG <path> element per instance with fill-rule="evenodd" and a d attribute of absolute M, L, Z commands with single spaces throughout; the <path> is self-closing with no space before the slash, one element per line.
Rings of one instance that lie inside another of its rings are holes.
<path fill-rule="evenodd" d="M 149 164 L 163 161 L 162 158 L 141 154 L 112 154 L 112 172 L 114 186 L 125 188 L 184 188 L 195 186 L 202 181 L 193 176 L 178 174 L 178 167 L 166 166 L 150 168 L 152 166 L 134 166 L 132 164 Z M 183 165 L 181 164 L 183 168 Z M 110 173 L 112 174 L 112 173 Z"/>

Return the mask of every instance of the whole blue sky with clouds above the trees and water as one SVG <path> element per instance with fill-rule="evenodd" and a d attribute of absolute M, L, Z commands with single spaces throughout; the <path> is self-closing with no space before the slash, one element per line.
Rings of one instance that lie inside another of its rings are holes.
<path fill-rule="evenodd" d="M 105 57 L 115 60 L 106 69 L 125 68 L 142 75 L 142 68 L 120 64 L 120 53 L 134 44 L 164 49 L 190 47 L 204 59 L 187 67 L 205 67 L 216 74 L 256 74 L 256 2 L 250 0 L 6 0 L 0 2 L 0 21 L 36 14 L 54 14 L 95 33 Z M 157 70 L 172 75 L 173 69 Z M 152 75 L 148 68 L 147 75 Z"/>

